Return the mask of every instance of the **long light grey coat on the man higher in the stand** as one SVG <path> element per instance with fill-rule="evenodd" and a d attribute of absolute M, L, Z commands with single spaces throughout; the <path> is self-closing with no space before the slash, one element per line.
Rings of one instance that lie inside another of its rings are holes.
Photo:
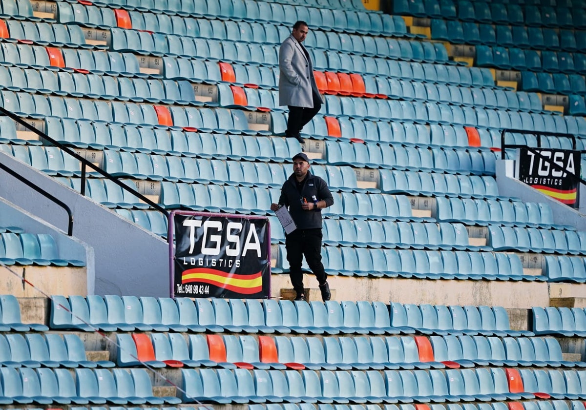
<path fill-rule="evenodd" d="M 312 90 L 319 95 L 314 64 L 305 57 L 301 45 L 292 35 L 287 37 L 279 49 L 279 69 L 279 105 L 313 108 Z"/>

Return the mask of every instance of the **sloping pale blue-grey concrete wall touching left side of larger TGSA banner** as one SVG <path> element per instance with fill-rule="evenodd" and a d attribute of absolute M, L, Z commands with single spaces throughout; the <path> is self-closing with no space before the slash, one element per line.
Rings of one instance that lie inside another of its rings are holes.
<path fill-rule="evenodd" d="M 0 152 L 0 161 L 70 207 L 74 237 L 94 250 L 95 279 L 88 280 L 88 294 L 169 296 L 169 250 L 160 237 L 12 156 Z M 61 207 L 1 170 L 0 197 L 67 231 Z"/>

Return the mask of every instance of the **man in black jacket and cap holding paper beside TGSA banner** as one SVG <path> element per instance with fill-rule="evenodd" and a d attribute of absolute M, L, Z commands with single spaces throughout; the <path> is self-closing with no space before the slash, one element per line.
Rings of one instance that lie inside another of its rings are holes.
<path fill-rule="evenodd" d="M 303 255 L 318 279 L 322 299 L 329 300 L 326 272 L 322 264 L 322 209 L 332 206 L 333 197 L 328 184 L 319 176 L 309 172 L 309 159 L 300 152 L 293 157 L 293 173 L 281 188 L 278 204 L 271 204 L 276 211 L 281 206 L 289 208 L 297 229 L 285 235 L 289 277 L 297 292 L 295 300 L 305 300 L 301 262 Z"/>

